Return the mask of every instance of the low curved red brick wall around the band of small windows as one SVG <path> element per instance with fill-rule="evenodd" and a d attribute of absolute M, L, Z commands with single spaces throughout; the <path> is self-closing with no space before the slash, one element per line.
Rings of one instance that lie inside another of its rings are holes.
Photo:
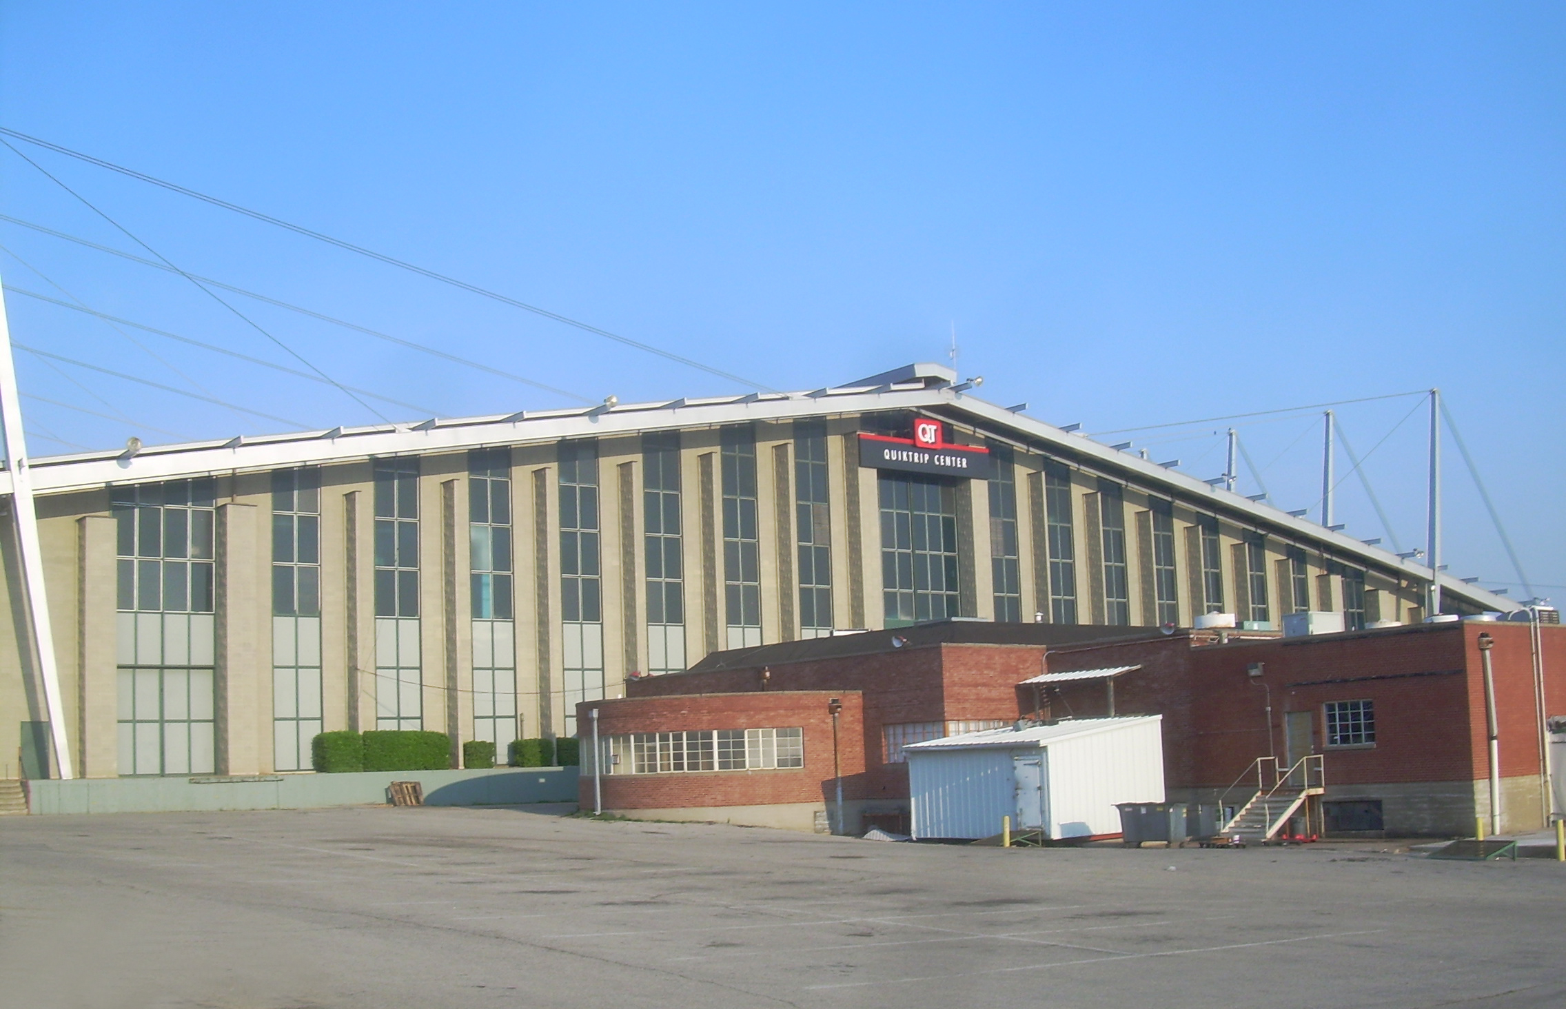
<path fill-rule="evenodd" d="M 767 691 L 739 694 L 677 694 L 625 697 L 576 705 L 579 725 L 598 708 L 601 736 L 633 732 L 703 729 L 803 729 L 805 766 L 777 771 L 683 771 L 670 774 L 604 774 L 604 808 L 686 808 L 706 805 L 774 805 L 824 802 L 833 794 L 832 714 L 827 702 L 843 700 L 838 754 L 844 799 L 864 790 L 864 702 L 857 691 Z M 589 741 L 590 730 L 583 736 Z M 590 743 L 587 743 L 590 746 Z M 581 804 L 592 807 L 592 777 L 578 783 Z"/>

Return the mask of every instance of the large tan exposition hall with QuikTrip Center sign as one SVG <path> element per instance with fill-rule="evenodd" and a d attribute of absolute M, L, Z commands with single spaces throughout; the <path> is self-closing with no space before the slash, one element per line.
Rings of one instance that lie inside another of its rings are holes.
<path fill-rule="evenodd" d="M 335 729 L 432 729 L 454 752 L 567 736 L 579 702 L 631 678 L 844 630 L 1232 613 L 1265 631 L 1297 611 L 1353 630 L 1419 624 L 1430 599 L 1414 559 L 985 403 L 938 365 L 27 473 L 56 674 L 3 537 L 0 722 L 20 727 L 3 777 L 58 774 L 52 733 L 86 777 L 307 771 Z M 1445 575 L 1439 597 L 1516 608 Z"/>

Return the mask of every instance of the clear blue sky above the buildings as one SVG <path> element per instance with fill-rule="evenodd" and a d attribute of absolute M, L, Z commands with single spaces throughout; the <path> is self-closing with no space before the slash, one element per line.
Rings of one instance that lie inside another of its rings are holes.
<path fill-rule="evenodd" d="M 1560 5 L 323 6 L 0 3 L 0 124 L 775 389 L 943 360 L 954 326 L 988 398 L 1088 431 L 1439 385 L 1528 575 L 1566 597 Z M 741 390 L 20 147 L 182 269 L 589 400 Z M 138 251 L 5 149 L 0 213 Z M 0 244 L 9 285 L 299 367 L 179 276 L 9 222 Z M 396 420 L 572 403 L 233 304 Z M 38 349 L 309 426 L 374 420 L 8 310 Z M 34 451 L 285 429 L 27 353 L 19 371 Z M 1405 547 L 1414 406 L 1340 412 L 1378 445 Z M 1110 440 L 1206 478 L 1221 426 Z M 1284 508 L 1320 497 L 1317 426 L 1240 428 Z M 1456 453 L 1447 473 L 1452 572 L 1516 581 Z M 1351 533 L 1387 537 L 1356 478 L 1339 494 Z"/>

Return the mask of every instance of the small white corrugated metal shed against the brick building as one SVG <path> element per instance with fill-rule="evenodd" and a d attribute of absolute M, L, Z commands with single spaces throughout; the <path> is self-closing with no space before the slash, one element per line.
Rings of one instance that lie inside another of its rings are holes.
<path fill-rule="evenodd" d="M 1117 802 L 1164 802 L 1162 716 L 993 729 L 904 747 L 915 838 L 1120 834 Z"/>

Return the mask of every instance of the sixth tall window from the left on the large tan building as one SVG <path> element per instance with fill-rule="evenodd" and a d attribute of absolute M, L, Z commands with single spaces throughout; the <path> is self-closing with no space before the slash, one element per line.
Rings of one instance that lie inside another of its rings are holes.
<path fill-rule="evenodd" d="M 680 432 L 642 436 L 647 523 L 647 671 L 680 672 L 684 661 L 684 553 L 680 509 Z"/>

